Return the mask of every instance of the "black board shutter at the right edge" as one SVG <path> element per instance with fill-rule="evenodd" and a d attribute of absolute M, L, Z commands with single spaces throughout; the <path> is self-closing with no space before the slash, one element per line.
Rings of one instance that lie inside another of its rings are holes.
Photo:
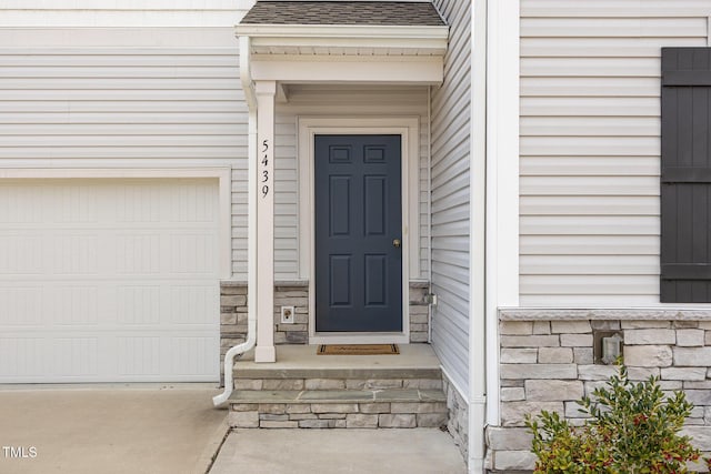
<path fill-rule="evenodd" d="M 661 302 L 711 302 L 711 48 L 662 48 Z"/>

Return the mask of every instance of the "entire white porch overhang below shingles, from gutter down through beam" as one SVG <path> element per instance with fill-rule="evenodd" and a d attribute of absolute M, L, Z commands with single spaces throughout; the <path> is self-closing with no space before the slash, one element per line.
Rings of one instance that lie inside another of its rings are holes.
<path fill-rule="evenodd" d="M 447 26 L 238 24 L 252 80 L 439 84 Z M 242 50 L 240 53 L 244 54 Z"/>

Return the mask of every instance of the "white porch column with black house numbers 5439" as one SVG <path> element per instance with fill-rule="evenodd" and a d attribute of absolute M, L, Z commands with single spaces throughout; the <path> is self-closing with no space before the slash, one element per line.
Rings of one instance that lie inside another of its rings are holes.
<path fill-rule="evenodd" d="M 274 351 L 274 95 L 276 81 L 257 81 L 257 349 L 254 362 Z"/>

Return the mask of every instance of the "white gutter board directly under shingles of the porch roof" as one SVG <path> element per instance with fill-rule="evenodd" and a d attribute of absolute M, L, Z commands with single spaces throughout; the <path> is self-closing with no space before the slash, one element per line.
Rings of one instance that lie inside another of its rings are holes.
<path fill-rule="evenodd" d="M 254 47 L 420 48 L 447 51 L 448 27 L 238 24 Z"/>

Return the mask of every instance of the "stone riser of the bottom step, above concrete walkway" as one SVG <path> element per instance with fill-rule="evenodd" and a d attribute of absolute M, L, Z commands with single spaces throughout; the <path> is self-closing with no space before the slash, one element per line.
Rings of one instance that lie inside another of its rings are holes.
<path fill-rule="evenodd" d="M 414 428 L 448 421 L 444 402 L 233 403 L 236 428 Z"/>

